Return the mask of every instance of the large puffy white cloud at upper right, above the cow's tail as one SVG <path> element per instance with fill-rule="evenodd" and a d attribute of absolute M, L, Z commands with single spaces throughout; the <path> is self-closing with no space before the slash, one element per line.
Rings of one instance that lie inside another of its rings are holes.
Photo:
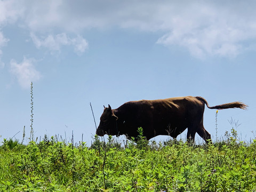
<path fill-rule="evenodd" d="M 246 49 L 245 42 L 256 38 L 256 14 L 252 12 L 248 17 L 238 6 L 206 3 L 193 4 L 190 10 L 181 9 L 166 25 L 170 32 L 157 43 L 185 47 L 197 58 L 206 55 L 236 57 Z"/>

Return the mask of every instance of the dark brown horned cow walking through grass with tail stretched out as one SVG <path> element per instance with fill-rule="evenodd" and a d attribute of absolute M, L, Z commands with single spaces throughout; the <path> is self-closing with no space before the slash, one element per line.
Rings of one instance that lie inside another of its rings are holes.
<path fill-rule="evenodd" d="M 198 133 L 206 142 L 211 135 L 204 129 L 204 105 L 210 109 L 241 108 L 242 102 L 231 102 L 209 107 L 202 97 L 177 97 L 159 100 L 130 101 L 117 109 L 104 107 L 96 134 L 103 136 L 125 134 L 128 139 L 138 137 L 138 127 L 142 127 L 147 140 L 157 135 L 170 135 L 177 138 L 188 128 L 187 140 L 194 141 Z"/>

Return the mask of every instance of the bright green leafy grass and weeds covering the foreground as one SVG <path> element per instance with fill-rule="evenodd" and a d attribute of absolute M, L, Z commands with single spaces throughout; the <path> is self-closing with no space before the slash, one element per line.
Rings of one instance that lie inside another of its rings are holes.
<path fill-rule="evenodd" d="M 256 140 L 213 145 L 140 138 L 91 147 L 46 137 L 0 147 L 0 191 L 256 191 Z"/>

